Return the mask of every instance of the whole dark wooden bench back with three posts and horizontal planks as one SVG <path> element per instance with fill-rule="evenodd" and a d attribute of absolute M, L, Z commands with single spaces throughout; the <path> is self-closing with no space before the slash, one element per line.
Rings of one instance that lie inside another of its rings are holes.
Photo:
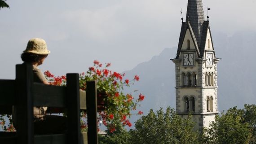
<path fill-rule="evenodd" d="M 12 114 L 15 105 L 19 127 L 16 132 L 0 132 L 0 144 L 98 144 L 96 96 L 95 81 L 87 82 L 86 96 L 79 95 L 79 74 L 66 74 L 66 87 L 44 85 L 33 82 L 32 65 L 16 65 L 15 80 L 0 79 L 0 114 Z M 67 109 L 66 133 L 34 135 L 34 106 Z M 88 133 L 84 134 L 80 109 L 88 115 Z"/>

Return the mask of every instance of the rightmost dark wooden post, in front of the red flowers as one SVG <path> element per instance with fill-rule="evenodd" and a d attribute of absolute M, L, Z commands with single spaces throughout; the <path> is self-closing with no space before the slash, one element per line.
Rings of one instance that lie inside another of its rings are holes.
<path fill-rule="evenodd" d="M 86 105 L 88 121 L 88 144 L 98 144 L 97 89 L 96 82 L 86 82 Z"/>

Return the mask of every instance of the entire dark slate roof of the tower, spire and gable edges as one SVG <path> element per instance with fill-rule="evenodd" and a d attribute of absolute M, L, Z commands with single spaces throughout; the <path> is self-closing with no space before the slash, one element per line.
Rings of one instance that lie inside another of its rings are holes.
<path fill-rule="evenodd" d="M 209 21 L 204 21 L 202 0 L 188 0 L 187 18 L 186 22 L 182 22 L 181 24 L 181 34 L 176 59 L 179 58 L 181 46 L 183 44 L 186 31 L 188 30 L 191 33 L 199 58 L 203 57 L 208 28 L 210 29 Z M 211 31 L 209 32 L 211 35 Z"/>

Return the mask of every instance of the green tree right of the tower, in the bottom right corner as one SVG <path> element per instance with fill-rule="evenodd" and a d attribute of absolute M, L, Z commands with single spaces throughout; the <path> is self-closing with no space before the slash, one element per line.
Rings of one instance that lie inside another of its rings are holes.
<path fill-rule="evenodd" d="M 244 109 L 230 108 L 216 116 L 211 127 L 205 129 L 205 144 L 256 144 L 256 105 L 244 105 Z"/>

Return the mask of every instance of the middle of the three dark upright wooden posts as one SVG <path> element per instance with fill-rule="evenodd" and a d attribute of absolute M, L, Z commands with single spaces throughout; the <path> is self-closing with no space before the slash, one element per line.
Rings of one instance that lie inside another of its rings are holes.
<path fill-rule="evenodd" d="M 68 144 L 80 144 L 79 74 L 66 74 Z"/>

